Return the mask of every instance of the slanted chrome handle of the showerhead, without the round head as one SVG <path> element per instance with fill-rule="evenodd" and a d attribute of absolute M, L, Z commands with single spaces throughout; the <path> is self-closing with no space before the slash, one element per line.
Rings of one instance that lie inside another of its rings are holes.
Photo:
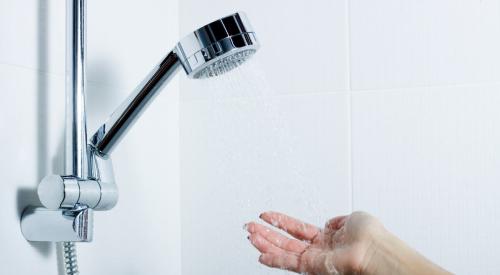
<path fill-rule="evenodd" d="M 162 87 L 172 79 L 180 65 L 177 54 L 171 51 L 111 114 L 108 121 L 99 127 L 90 140 L 98 156 L 109 156 Z"/>

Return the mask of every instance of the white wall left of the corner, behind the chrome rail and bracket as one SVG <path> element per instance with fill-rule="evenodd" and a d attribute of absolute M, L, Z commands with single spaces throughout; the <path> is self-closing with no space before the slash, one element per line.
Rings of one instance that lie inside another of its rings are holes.
<path fill-rule="evenodd" d="M 89 132 L 172 48 L 177 10 L 88 1 Z M 0 274 L 58 274 L 55 246 L 26 242 L 19 215 L 63 164 L 65 1 L 0 1 L 0 34 Z M 156 101 L 114 153 L 120 201 L 78 245 L 81 274 L 180 274 L 177 80 Z"/>

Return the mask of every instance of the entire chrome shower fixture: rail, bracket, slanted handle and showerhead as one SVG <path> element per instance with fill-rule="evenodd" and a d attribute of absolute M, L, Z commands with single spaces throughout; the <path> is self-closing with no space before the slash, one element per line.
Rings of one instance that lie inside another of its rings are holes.
<path fill-rule="evenodd" d="M 177 43 L 87 140 L 84 1 L 67 0 L 65 174 L 46 176 L 38 186 L 44 207 L 23 212 L 21 230 L 29 241 L 91 241 L 93 211 L 118 202 L 110 154 L 164 85 L 181 66 L 189 78 L 213 77 L 236 68 L 259 48 L 243 13 L 199 28 Z"/>

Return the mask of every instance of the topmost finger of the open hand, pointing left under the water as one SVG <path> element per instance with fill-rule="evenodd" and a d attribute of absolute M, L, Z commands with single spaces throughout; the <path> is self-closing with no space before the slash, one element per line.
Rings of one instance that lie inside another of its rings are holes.
<path fill-rule="evenodd" d="M 318 227 L 278 212 L 265 212 L 260 218 L 299 240 L 312 241 L 319 233 Z"/>

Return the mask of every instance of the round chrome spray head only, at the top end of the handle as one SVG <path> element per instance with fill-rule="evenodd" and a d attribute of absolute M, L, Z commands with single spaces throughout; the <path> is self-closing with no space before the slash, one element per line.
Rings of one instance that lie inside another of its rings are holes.
<path fill-rule="evenodd" d="M 175 52 L 190 78 L 224 74 L 252 57 L 259 43 L 248 19 L 235 13 L 182 39 Z"/>

